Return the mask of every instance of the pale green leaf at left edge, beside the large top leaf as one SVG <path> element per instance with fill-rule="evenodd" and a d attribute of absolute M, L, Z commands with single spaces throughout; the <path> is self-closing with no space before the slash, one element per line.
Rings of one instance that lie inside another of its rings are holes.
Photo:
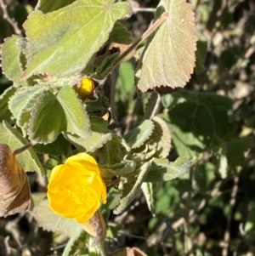
<path fill-rule="evenodd" d="M 18 42 L 22 40 L 18 36 L 8 37 L 3 43 L 3 54 L 2 54 L 2 69 L 3 73 L 9 80 L 13 82 L 20 82 L 20 76 L 22 74 L 20 64 L 20 48 Z"/>

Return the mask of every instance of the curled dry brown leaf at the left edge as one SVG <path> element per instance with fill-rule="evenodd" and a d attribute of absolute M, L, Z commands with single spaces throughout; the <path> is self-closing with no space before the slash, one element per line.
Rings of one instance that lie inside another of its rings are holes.
<path fill-rule="evenodd" d="M 8 145 L 0 144 L 0 217 L 21 213 L 30 207 L 27 176 Z"/>

